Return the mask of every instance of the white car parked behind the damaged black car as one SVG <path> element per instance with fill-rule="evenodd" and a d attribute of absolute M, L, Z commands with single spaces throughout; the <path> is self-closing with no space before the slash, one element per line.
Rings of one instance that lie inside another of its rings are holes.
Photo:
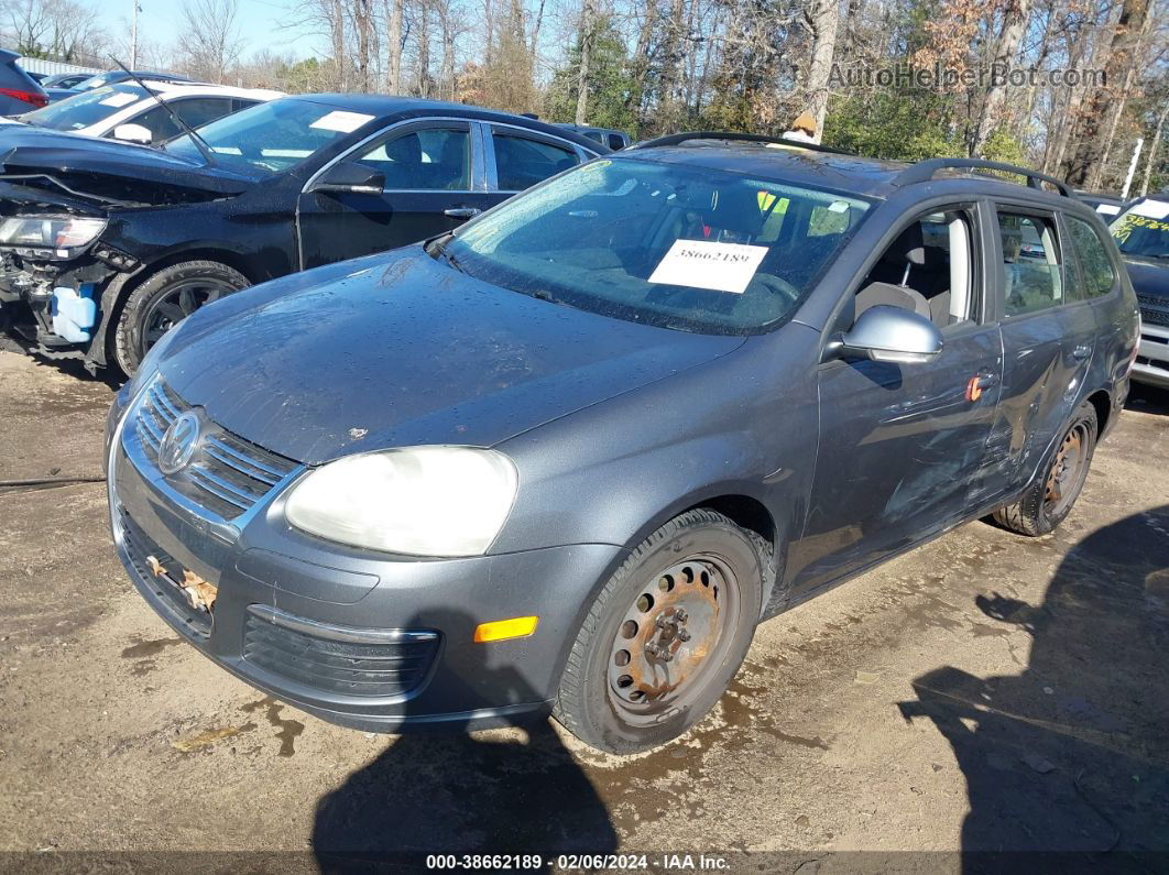
<path fill-rule="evenodd" d="M 199 127 L 277 97 L 284 97 L 283 92 L 195 82 L 146 81 L 143 85 L 119 82 L 16 116 L 15 121 L 87 137 L 153 145 L 182 133 L 166 109 L 159 105 L 159 99 L 191 127 Z"/>

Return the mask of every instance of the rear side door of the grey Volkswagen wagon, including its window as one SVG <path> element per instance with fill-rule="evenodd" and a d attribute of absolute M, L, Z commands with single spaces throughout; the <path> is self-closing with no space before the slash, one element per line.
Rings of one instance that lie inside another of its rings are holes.
<path fill-rule="evenodd" d="M 1092 364 L 1097 322 L 1072 300 L 1054 213 L 996 204 L 998 306 L 1005 368 L 992 452 L 1003 493 L 1022 487 L 1071 415 Z"/>

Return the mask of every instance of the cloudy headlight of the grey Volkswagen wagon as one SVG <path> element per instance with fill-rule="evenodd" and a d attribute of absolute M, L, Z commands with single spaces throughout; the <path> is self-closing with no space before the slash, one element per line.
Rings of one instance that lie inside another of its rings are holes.
<path fill-rule="evenodd" d="M 289 522 L 331 541 L 415 556 L 479 556 L 503 528 L 517 474 L 503 453 L 415 446 L 348 456 L 289 496 Z"/>

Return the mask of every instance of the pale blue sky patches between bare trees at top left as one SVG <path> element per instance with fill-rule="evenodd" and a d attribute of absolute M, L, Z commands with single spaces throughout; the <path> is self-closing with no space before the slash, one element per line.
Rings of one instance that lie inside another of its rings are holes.
<path fill-rule="evenodd" d="M 105 9 L 119 14 L 130 27 L 133 0 L 108 0 Z M 238 0 L 237 28 L 245 41 L 244 56 L 260 49 L 291 53 L 307 57 L 319 53 L 320 39 L 313 34 L 282 28 L 293 18 L 289 12 L 295 0 Z M 181 39 L 181 0 L 138 0 L 138 39 L 140 43 L 171 46 Z"/>

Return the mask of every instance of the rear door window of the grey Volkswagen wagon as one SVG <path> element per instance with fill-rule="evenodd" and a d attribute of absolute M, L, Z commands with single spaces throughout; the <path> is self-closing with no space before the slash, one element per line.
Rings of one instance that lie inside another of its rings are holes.
<path fill-rule="evenodd" d="M 1037 313 L 1064 303 L 1059 246 L 1051 217 L 998 213 L 1003 242 L 999 270 L 1007 317 Z"/>

